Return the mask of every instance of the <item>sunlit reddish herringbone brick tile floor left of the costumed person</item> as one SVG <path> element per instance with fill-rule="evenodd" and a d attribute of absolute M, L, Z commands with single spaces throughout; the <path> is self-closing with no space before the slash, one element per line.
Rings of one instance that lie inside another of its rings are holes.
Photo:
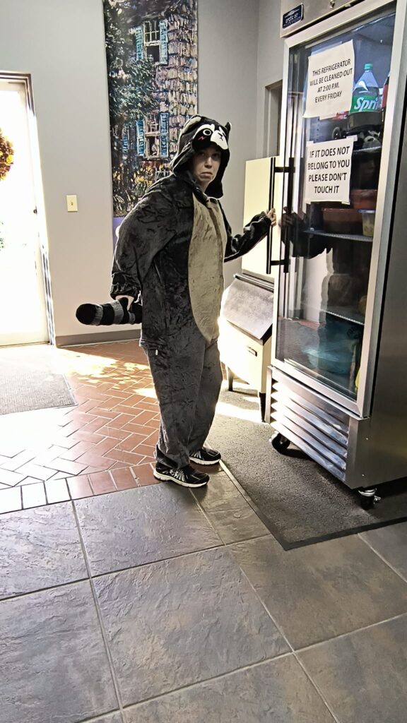
<path fill-rule="evenodd" d="M 0 513 L 157 482 L 159 407 L 138 341 L 58 354 L 77 406 L 0 418 Z"/>

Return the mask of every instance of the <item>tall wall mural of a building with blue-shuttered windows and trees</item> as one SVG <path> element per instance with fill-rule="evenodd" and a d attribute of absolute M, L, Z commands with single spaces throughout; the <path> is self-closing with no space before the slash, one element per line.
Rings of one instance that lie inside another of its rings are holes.
<path fill-rule="evenodd" d="M 104 0 L 114 226 L 169 173 L 197 111 L 198 0 Z"/>

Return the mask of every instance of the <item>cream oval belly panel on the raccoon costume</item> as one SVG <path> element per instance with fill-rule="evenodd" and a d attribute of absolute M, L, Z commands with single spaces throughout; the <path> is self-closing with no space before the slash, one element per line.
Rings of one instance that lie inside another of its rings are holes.
<path fill-rule="evenodd" d="M 188 257 L 188 280 L 193 317 L 206 341 L 219 334 L 218 317 L 222 294 L 223 259 L 227 233 L 219 203 L 204 205 L 193 197 L 193 232 Z"/>

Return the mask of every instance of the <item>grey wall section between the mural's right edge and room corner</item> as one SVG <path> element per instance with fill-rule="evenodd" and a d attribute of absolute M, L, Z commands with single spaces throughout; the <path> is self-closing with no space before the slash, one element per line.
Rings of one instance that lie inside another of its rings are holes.
<path fill-rule="evenodd" d="M 243 227 L 245 163 L 256 157 L 258 10 L 259 0 L 198 0 L 198 111 L 232 124 L 222 204 L 234 233 Z M 239 269 L 239 260 L 226 264 L 225 282 Z"/>

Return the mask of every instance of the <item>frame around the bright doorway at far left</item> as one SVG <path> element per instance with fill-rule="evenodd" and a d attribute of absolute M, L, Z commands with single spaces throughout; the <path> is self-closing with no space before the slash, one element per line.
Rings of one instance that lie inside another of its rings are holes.
<path fill-rule="evenodd" d="M 43 181 L 41 175 L 40 148 L 38 143 L 37 121 L 35 118 L 33 85 L 30 73 L 8 72 L 0 70 L 0 81 L 22 83 L 25 87 L 25 98 L 28 111 L 28 136 L 30 142 L 31 161 L 33 166 L 33 185 L 35 196 L 35 212 L 38 223 L 38 239 L 41 254 L 41 272 L 43 277 L 43 294 L 46 305 L 46 322 L 49 343 L 55 345 L 54 309 L 51 294 L 51 275 L 49 270 L 48 234 L 46 230 L 45 202 L 43 197 Z"/>

